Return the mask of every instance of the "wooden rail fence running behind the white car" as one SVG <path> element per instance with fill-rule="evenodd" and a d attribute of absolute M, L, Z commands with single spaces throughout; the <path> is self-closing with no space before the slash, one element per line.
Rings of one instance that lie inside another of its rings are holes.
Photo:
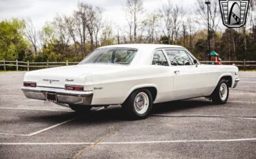
<path fill-rule="evenodd" d="M 16 61 L 0 61 L 0 70 L 7 71 L 7 70 L 16 70 L 16 71 L 30 71 L 31 69 L 40 69 L 40 68 L 52 68 L 52 67 L 60 67 L 60 66 L 71 66 L 76 65 L 79 62 L 19 62 Z M 209 64 L 208 61 L 201 62 L 202 64 Z M 211 62 L 212 63 L 212 62 Z M 240 69 L 248 70 L 248 69 L 255 69 L 256 68 L 256 61 L 223 61 L 223 65 L 235 65 L 238 66 Z"/>

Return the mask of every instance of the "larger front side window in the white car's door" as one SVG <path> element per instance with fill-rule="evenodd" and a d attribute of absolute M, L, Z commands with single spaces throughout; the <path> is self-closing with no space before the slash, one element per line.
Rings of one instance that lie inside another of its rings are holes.
<path fill-rule="evenodd" d="M 192 61 L 184 50 L 165 50 L 172 66 L 192 65 Z"/>

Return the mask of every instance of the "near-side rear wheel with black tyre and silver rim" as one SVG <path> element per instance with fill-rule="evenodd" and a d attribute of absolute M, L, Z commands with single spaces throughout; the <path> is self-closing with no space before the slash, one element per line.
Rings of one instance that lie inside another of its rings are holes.
<path fill-rule="evenodd" d="M 122 110 L 129 119 L 146 118 L 152 110 L 152 95 L 145 89 L 138 89 L 131 93 L 124 104 Z"/>

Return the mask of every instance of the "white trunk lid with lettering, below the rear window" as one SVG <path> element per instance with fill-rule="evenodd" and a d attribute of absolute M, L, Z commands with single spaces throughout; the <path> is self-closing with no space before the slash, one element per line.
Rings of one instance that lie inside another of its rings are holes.
<path fill-rule="evenodd" d="M 37 82 L 37 86 L 65 88 L 65 84 L 82 85 L 92 84 L 92 73 L 106 73 L 126 66 L 84 64 L 48 68 L 39 71 L 30 71 L 24 76 L 24 82 Z"/>

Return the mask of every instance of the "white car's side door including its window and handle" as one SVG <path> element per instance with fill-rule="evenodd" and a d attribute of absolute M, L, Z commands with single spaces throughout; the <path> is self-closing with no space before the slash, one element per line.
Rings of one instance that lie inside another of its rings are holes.
<path fill-rule="evenodd" d="M 174 99 L 199 97 L 203 94 L 204 76 L 201 68 L 185 49 L 166 49 L 165 53 L 174 72 Z"/>

